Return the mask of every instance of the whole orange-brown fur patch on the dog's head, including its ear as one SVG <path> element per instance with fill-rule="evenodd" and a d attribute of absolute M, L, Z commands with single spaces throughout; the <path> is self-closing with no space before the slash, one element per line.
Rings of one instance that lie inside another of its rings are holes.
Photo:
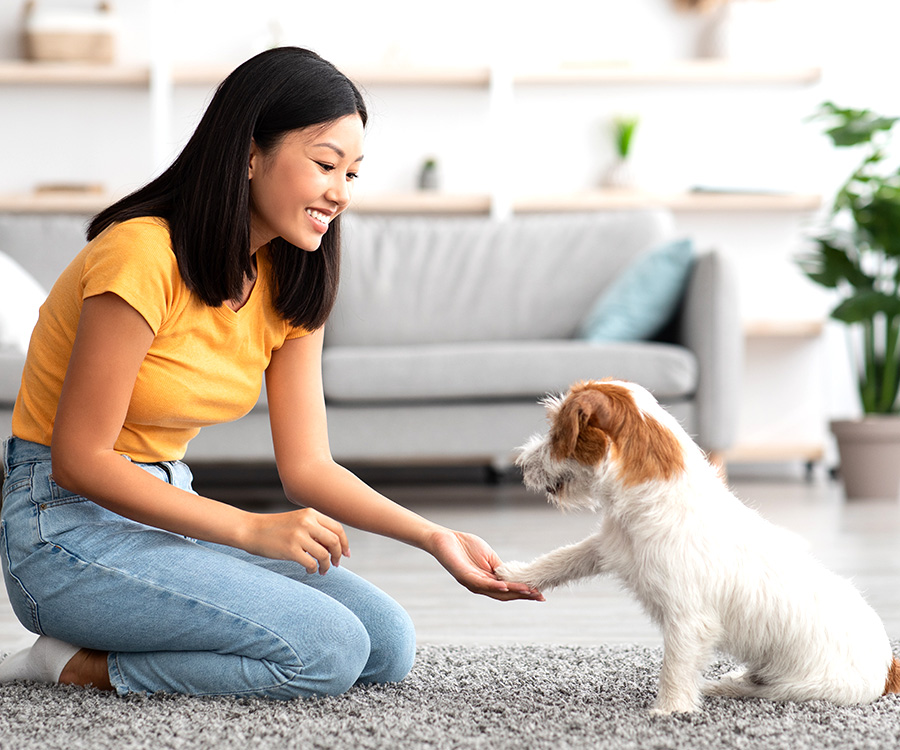
<path fill-rule="evenodd" d="M 638 408 L 628 388 L 605 381 L 577 383 L 557 412 L 550 455 L 594 466 L 607 451 L 615 451 L 625 485 L 671 479 L 684 470 L 678 439 Z"/>

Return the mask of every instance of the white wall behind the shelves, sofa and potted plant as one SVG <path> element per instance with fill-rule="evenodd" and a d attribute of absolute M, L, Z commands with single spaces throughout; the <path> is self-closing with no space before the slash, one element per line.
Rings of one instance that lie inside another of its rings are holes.
<path fill-rule="evenodd" d="M 93 5 L 93 0 L 41 4 L 75 7 Z M 409 63 L 521 69 L 597 60 L 648 62 L 696 56 L 710 20 L 678 13 L 669 0 L 345 0 L 328 6 L 302 0 L 119 0 L 115 5 L 123 63 L 164 55 L 175 63 L 232 65 L 273 43 L 309 46 L 339 66 L 352 67 Z M 419 164 L 430 155 L 439 158 L 443 187 L 451 192 L 487 191 L 501 170 L 522 194 L 589 188 L 598 184 L 611 159 L 610 119 L 637 113 L 641 124 L 634 162 L 644 187 L 796 190 L 822 193 L 827 202 L 854 160 L 831 149 L 821 126 L 805 118 L 825 99 L 900 113 L 895 82 L 900 3 L 735 5 L 771 14 L 754 56 L 822 65 L 821 81 L 520 86 L 513 117 L 504 126 L 509 156 L 497 149 L 485 88 L 371 86 L 366 95 L 372 118 L 358 189 L 411 189 Z M 0 0 L 0 58 L 20 54 L 19 9 L 18 0 Z M 160 24 L 166 17 L 172 20 Z M 166 158 L 189 135 L 209 93 L 208 87 L 178 90 Z M 0 192 L 57 181 L 98 182 L 113 191 L 134 187 L 163 166 L 153 156 L 148 120 L 147 92 L 140 88 L 4 87 L 0 140 L 7 149 Z M 808 318 L 823 315 L 828 300 L 801 277 L 792 257 L 814 218 L 684 213 L 678 222 L 699 244 L 716 245 L 738 259 L 746 318 Z M 843 340 L 832 334 L 828 339 L 822 344 L 824 367 L 807 367 L 799 376 L 798 368 L 788 367 L 788 375 L 802 379 L 822 370 L 821 382 L 785 386 L 779 368 L 763 367 L 758 377 L 768 371 L 779 382 L 755 383 L 754 389 L 781 388 L 800 400 L 821 396 L 823 403 L 813 405 L 820 424 L 825 416 L 854 411 Z"/>

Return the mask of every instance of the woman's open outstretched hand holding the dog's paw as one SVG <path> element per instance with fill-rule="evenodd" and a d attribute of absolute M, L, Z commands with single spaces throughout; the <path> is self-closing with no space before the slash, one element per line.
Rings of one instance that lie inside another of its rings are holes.
<path fill-rule="evenodd" d="M 540 591 L 524 583 L 501 581 L 494 572 L 500 558 L 488 544 L 473 534 L 441 529 L 435 531 L 428 551 L 450 574 L 474 594 L 493 599 L 532 599 L 542 602 Z"/>

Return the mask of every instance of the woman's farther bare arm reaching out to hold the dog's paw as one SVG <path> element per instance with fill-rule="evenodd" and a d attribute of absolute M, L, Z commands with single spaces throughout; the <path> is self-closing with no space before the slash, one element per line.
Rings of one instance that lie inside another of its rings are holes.
<path fill-rule="evenodd" d="M 322 330 L 290 339 L 266 370 L 275 459 L 285 494 L 341 523 L 419 547 L 464 586 L 497 599 L 540 599 L 534 589 L 500 581 L 500 560 L 478 537 L 426 520 L 379 494 L 334 462 L 322 387 Z"/>

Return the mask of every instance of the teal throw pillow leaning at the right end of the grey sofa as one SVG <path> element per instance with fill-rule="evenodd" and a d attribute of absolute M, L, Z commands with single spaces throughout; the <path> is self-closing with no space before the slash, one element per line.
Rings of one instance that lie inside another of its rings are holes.
<path fill-rule="evenodd" d="M 675 240 L 638 257 L 606 289 L 578 328 L 589 341 L 641 341 L 675 312 L 694 262 L 691 240 Z"/>

